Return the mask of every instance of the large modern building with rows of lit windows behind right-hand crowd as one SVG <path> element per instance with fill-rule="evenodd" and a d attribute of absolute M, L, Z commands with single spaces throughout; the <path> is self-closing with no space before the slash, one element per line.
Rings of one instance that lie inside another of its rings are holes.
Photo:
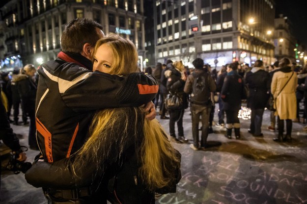
<path fill-rule="evenodd" d="M 274 0 L 156 0 L 154 7 L 157 62 L 275 62 Z"/>

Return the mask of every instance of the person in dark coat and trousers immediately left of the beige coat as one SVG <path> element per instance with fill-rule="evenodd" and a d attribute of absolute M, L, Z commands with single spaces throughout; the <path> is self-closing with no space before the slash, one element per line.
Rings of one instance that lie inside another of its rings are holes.
<path fill-rule="evenodd" d="M 251 126 L 248 130 L 254 136 L 263 136 L 261 132 L 264 108 L 269 100 L 271 80 L 268 72 L 264 71 L 263 61 L 255 61 L 251 72 L 245 77 L 245 83 L 250 89 L 247 106 L 251 108 Z"/>

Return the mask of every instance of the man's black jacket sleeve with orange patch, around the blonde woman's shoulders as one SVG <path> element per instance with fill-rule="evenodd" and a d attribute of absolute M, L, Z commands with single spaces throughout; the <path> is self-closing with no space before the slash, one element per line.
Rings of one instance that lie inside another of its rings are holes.
<path fill-rule="evenodd" d="M 83 80 L 69 88 L 66 86 L 67 83 L 59 84 L 59 89 L 63 89 L 61 97 L 75 111 L 140 106 L 154 99 L 159 89 L 151 75 L 115 76 L 98 71 L 84 73 Z"/>

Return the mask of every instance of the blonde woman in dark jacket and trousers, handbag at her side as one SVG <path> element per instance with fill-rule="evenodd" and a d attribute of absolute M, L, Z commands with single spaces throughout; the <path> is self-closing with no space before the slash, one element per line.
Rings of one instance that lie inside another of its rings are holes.
<path fill-rule="evenodd" d="M 182 98 L 183 107 L 176 110 L 168 110 L 169 112 L 169 135 L 174 138 L 175 142 L 188 142 L 185 138 L 183 132 L 182 118 L 184 114 L 184 109 L 188 107 L 188 100 L 186 94 L 184 93 L 184 85 L 187 77 L 183 74 L 184 65 L 182 61 L 175 61 L 172 64 L 168 63 L 169 69 L 165 72 L 167 77 L 167 90 L 171 93 L 177 93 L 179 97 Z M 178 128 L 178 139 L 175 134 L 175 123 L 177 122 Z"/>

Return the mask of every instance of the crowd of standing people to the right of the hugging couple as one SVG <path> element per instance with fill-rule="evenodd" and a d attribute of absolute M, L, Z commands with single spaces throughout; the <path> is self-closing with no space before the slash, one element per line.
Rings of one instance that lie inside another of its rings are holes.
<path fill-rule="evenodd" d="M 182 118 L 184 110 L 190 107 L 192 116 L 192 134 L 194 144 L 190 147 L 194 150 L 208 147 L 206 140 L 208 134 L 213 132 L 212 121 L 215 111 L 215 103 L 218 108 L 217 128 L 226 128 L 225 137 L 232 138 L 232 129 L 236 139 L 240 139 L 240 121 L 238 111 L 242 103 L 251 109 L 251 124 L 248 132 L 255 137 L 263 136 L 262 117 L 268 107 L 270 95 L 275 99 L 274 110 L 271 111 L 271 131 L 278 130 L 278 136 L 273 140 L 276 142 L 290 142 L 292 132 L 292 121 L 300 122 L 300 102 L 307 95 L 307 66 L 304 68 L 291 63 L 288 58 L 282 58 L 271 66 L 264 66 L 262 60 L 256 60 L 253 66 L 241 65 L 232 62 L 224 65 L 218 72 L 211 69 L 210 65 L 204 64 L 200 58 L 193 61 L 194 68 L 183 65 L 181 60 L 172 62 L 167 60 L 166 64 L 157 63 L 156 68 L 146 70 L 155 73 L 159 81 L 159 97 L 153 102 L 160 108 L 161 119 L 168 119 L 169 134 L 177 143 L 187 143 L 184 136 Z M 203 76 L 203 88 L 201 99 L 198 98 L 199 90 L 195 85 L 195 79 Z M 160 78 L 160 80 L 159 80 Z M 211 93 L 211 94 L 209 94 Z M 167 94 L 176 94 L 181 98 L 182 105 L 177 109 L 165 109 Z M 196 97 L 195 97 L 196 96 Z M 195 99 L 197 98 L 197 99 Z M 304 102 L 306 104 L 306 102 Z M 304 105 L 303 118 L 306 118 L 306 107 Z M 201 116 L 201 117 L 200 117 Z M 202 126 L 198 128 L 201 118 Z M 277 118 L 277 123 L 276 123 Z M 286 131 L 284 133 L 284 121 Z M 178 128 L 178 136 L 175 133 L 175 123 Z M 199 142 L 198 130 L 201 130 L 201 141 Z M 307 126 L 303 128 L 307 131 Z"/>

